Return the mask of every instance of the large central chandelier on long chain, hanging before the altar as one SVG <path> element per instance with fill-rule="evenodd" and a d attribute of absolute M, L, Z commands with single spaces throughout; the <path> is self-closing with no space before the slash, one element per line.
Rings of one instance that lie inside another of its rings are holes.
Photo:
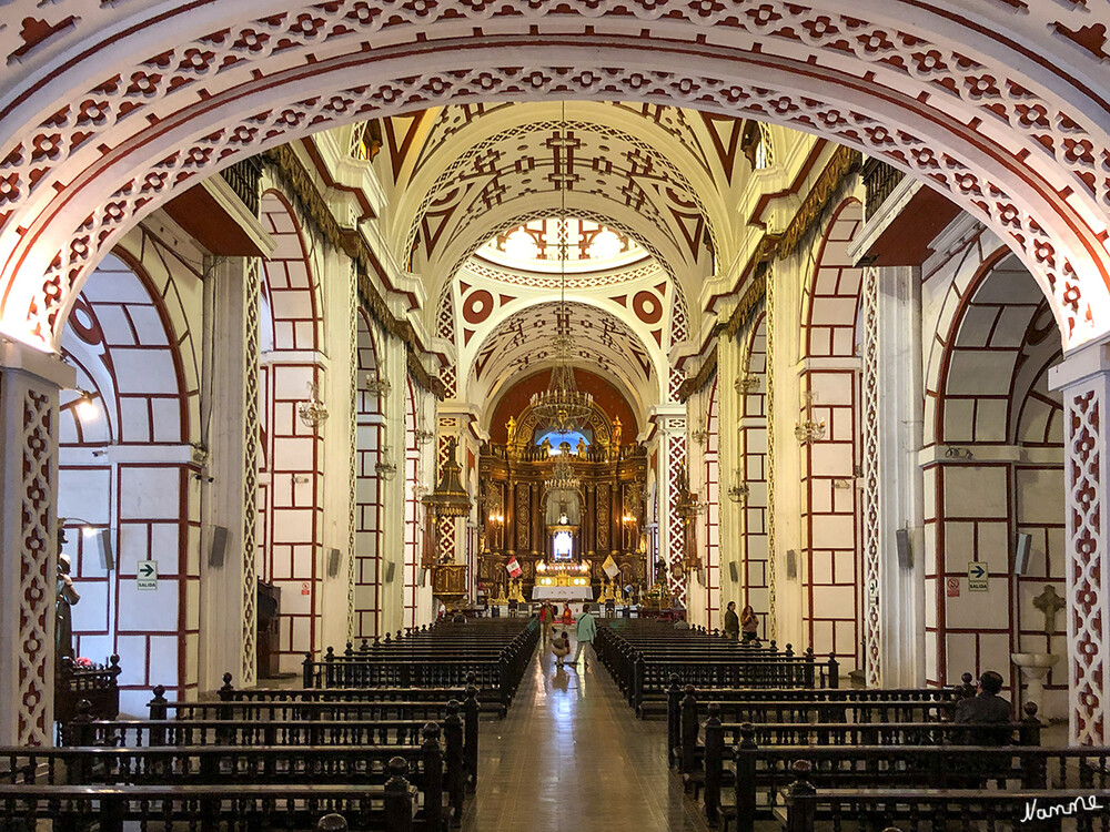
<path fill-rule="evenodd" d="M 559 122 L 559 136 L 552 143 L 562 148 L 561 160 L 567 158 L 566 150 L 573 144 L 566 131 L 566 102 L 563 103 L 563 115 Z M 561 164 L 563 162 L 561 161 Z M 566 303 L 566 258 L 569 243 L 569 231 L 566 219 L 566 189 L 574 175 L 566 170 L 556 170 L 552 180 L 559 190 L 558 214 L 558 252 L 559 252 L 559 314 L 555 321 L 555 336 L 552 338 L 552 353 L 555 366 L 552 368 L 551 382 L 543 393 L 534 393 L 529 404 L 539 424 L 546 425 L 558 433 L 567 433 L 589 419 L 594 397 L 585 390 L 579 390 L 574 379 L 574 367 L 571 365 L 574 352 L 574 336 L 571 334 L 571 310 Z"/>

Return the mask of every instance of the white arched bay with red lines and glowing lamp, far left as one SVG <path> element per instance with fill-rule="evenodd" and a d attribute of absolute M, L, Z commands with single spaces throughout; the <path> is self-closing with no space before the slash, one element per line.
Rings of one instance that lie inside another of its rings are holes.
<path fill-rule="evenodd" d="M 121 709 L 141 716 L 151 687 L 180 697 L 198 687 L 195 367 L 181 349 L 191 334 L 171 323 L 168 303 L 179 298 L 164 284 L 122 251 L 98 276 L 62 341 L 78 389 L 62 394 L 59 511 L 81 596 L 73 656 L 104 662 L 118 653 Z M 149 561 L 153 587 L 138 580 Z"/>

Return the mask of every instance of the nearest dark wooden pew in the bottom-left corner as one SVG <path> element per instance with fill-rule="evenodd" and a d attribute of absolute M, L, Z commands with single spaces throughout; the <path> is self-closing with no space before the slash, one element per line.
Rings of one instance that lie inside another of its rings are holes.
<path fill-rule="evenodd" d="M 366 785 L 28 785 L 0 783 L 0 828 L 33 832 L 51 821 L 56 832 L 235 832 L 241 829 L 312 830 L 322 814 L 342 812 L 352 832 L 414 832 L 416 791 L 403 758 L 390 761 L 382 787 Z"/>

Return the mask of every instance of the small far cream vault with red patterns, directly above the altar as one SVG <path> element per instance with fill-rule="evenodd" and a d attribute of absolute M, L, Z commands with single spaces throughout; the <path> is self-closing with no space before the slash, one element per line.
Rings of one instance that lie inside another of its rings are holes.
<path fill-rule="evenodd" d="M 568 302 L 569 331 L 575 337 L 573 363 L 612 382 L 640 410 L 655 404 L 658 392 L 656 351 L 613 313 Z M 496 325 L 478 346 L 470 373 L 472 402 L 492 402 L 504 385 L 552 366 L 552 338 L 562 306 L 557 301 L 528 306 Z"/>

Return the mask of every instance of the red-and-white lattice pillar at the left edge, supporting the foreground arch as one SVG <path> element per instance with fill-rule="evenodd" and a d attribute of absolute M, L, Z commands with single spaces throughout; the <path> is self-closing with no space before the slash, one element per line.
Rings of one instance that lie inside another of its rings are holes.
<path fill-rule="evenodd" d="M 0 744 L 53 742 L 58 390 L 72 367 L 0 341 Z"/>

